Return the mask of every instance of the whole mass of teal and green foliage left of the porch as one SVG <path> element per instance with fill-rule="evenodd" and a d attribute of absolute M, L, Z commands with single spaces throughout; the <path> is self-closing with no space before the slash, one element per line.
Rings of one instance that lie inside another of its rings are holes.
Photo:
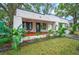
<path fill-rule="evenodd" d="M 18 29 L 12 29 L 6 26 L 5 22 L 0 22 L 0 44 L 11 42 L 12 48 L 17 49 L 24 33 L 25 30 L 20 27 Z"/>

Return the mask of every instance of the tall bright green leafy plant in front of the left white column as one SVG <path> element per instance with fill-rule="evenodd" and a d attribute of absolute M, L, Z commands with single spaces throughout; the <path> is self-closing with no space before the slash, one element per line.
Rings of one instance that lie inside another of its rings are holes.
<path fill-rule="evenodd" d="M 12 30 L 12 48 L 18 49 L 21 43 L 21 38 L 23 37 L 23 34 L 25 33 L 25 30 L 22 28 L 13 29 Z"/>

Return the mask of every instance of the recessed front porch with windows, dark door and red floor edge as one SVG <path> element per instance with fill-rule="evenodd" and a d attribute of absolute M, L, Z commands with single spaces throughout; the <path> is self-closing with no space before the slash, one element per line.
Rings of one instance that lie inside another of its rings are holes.
<path fill-rule="evenodd" d="M 55 22 L 23 18 L 22 28 L 28 32 L 25 36 L 43 35 L 47 34 L 49 29 L 55 30 Z"/>

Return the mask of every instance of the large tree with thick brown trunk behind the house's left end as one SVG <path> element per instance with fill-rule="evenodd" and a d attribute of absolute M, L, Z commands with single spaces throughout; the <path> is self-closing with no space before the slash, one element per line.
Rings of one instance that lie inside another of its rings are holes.
<path fill-rule="evenodd" d="M 21 8 L 22 4 L 19 3 L 0 3 L 0 7 L 7 13 L 7 16 L 10 19 L 10 25 L 12 27 L 13 24 L 13 17 L 16 13 L 17 8 Z"/>

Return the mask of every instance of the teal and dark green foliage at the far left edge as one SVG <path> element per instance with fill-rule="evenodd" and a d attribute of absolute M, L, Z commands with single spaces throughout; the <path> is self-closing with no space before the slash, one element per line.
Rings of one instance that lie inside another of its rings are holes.
<path fill-rule="evenodd" d="M 0 21 L 0 43 L 11 42 L 11 29 L 6 26 L 5 22 Z"/>

